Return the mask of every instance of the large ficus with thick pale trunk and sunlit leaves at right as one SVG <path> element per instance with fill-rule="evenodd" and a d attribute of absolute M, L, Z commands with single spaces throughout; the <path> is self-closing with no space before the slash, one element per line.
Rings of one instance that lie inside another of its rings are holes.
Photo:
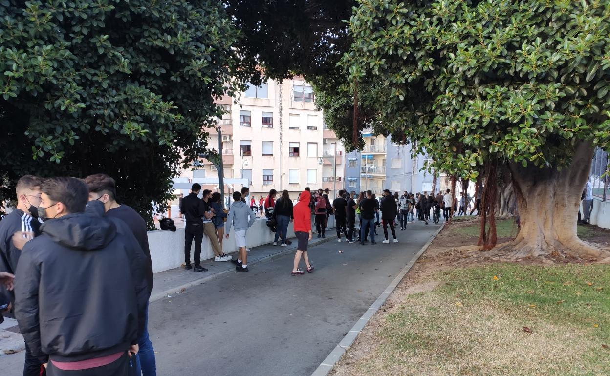
<path fill-rule="evenodd" d="M 432 168 L 474 179 L 508 165 L 512 257 L 606 258 L 576 216 L 593 148 L 610 140 L 608 20 L 608 1 L 360 0 L 343 92 Z"/>

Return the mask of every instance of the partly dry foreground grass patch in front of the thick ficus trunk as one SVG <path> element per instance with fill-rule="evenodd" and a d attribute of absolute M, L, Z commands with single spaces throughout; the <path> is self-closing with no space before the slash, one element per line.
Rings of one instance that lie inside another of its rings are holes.
<path fill-rule="evenodd" d="M 387 314 L 352 374 L 610 374 L 608 266 L 492 264 L 432 278 L 445 283 Z"/>

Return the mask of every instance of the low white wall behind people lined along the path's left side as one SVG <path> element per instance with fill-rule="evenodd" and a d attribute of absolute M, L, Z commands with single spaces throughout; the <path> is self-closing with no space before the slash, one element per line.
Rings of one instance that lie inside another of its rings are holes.
<path fill-rule="evenodd" d="M 254 222 L 252 227 L 248 229 L 246 238 L 248 248 L 273 242 L 275 233 L 271 232 L 269 227 L 267 227 L 266 222 L 266 218 L 259 218 Z M 332 228 L 334 227 L 334 224 L 334 216 L 331 216 L 328 219 L 328 226 Z M 225 238 L 223 241 L 223 250 L 227 254 L 237 251 L 234 234 L 234 230 L 231 229 L 229 239 Z M 289 238 L 294 238 L 295 236 L 292 222 L 288 225 L 288 236 Z M 184 227 L 179 228 L 176 232 L 160 230 L 149 231 L 148 245 L 151 250 L 152 272 L 158 273 L 168 269 L 178 268 L 184 264 Z M 194 248 L 195 242 L 193 241 L 193 246 L 191 247 L 191 261 L 194 261 Z M 204 235 L 203 243 L 201 243 L 201 260 L 207 260 L 212 257 L 214 257 L 212 245 L 207 236 Z"/>

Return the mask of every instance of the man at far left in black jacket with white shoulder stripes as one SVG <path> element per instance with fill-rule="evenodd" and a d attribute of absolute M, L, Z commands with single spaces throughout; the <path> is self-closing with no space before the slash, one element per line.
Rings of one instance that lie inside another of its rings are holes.
<path fill-rule="evenodd" d="M 43 179 L 32 175 L 22 176 L 17 181 L 15 189 L 17 207 L 0 221 L 0 271 L 2 272 L 15 274 L 24 244 L 40 233 L 38 207 L 42 182 Z M 15 294 L 9 291 L 6 299 L 15 302 Z M 24 376 L 40 376 L 41 371 L 45 374 L 42 363 L 32 356 L 27 343 L 25 357 Z"/>

